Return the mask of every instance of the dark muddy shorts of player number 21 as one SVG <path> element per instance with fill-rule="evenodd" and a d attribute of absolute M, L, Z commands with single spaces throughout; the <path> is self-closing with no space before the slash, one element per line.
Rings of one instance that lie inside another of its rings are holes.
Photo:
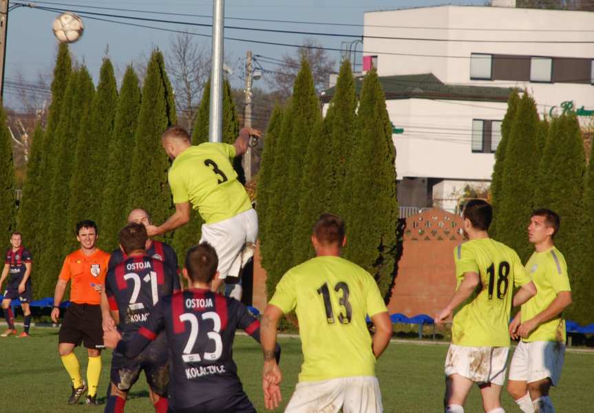
<path fill-rule="evenodd" d="M 169 385 L 169 350 L 167 339 L 161 334 L 134 359 L 128 359 L 116 351 L 112 358 L 112 383 L 123 392 L 128 392 L 144 370 L 150 388 L 161 397 L 167 397 Z"/>

